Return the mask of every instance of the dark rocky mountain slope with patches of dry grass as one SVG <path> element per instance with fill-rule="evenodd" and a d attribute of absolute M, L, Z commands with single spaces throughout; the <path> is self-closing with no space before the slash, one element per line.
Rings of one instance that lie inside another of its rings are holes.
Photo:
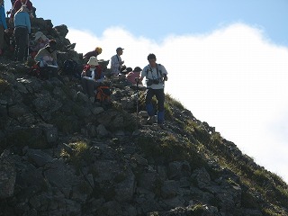
<path fill-rule="evenodd" d="M 59 65 L 81 64 L 65 25 L 32 27 L 58 40 Z M 107 78 L 112 104 L 103 106 L 74 77 L 28 71 L 8 52 L 0 59 L 1 216 L 288 215 L 287 184 L 169 95 L 159 128 L 136 113 L 124 80 Z"/>

